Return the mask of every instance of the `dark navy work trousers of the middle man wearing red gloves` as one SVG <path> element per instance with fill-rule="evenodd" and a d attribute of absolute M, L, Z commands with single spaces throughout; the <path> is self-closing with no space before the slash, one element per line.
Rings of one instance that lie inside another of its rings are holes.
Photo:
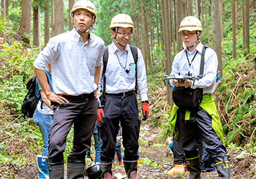
<path fill-rule="evenodd" d="M 99 126 L 99 137 L 103 140 L 100 160 L 110 163 L 115 156 L 116 135 L 119 121 L 121 122 L 124 161 L 138 160 L 138 139 L 140 132 L 140 118 L 138 102 L 135 94 L 131 96 L 116 96 L 106 94 L 104 115 Z"/>

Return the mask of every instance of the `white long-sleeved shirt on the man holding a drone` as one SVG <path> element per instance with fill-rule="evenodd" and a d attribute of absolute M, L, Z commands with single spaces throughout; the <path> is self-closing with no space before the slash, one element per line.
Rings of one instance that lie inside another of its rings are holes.
<path fill-rule="evenodd" d="M 170 75 L 186 75 L 188 72 L 192 73 L 192 76 L 197 76 L 200 74 L 200 62 L 202 56 L 203 45 L 200 43 L 197 45 L 197 48 L 192 51 L 192 53 L 187 50 L 187 47 L 179 52 L 173 61 L 172 69 L 173 71 Z M 189 58 L 189 62 L 187 61 L 187 56 Z M 198 51 L 197 55 L 195 53 Z M 192 58 L 195 56 L 194 61 Z M 191 66 L 189 66 L 191 63 Z M 215 83 L 216 83 L 216 72 L 218 66 L 218 58 L 217 54 L 212 50 L 210 47 L 206 48 L 205 54 L 205 64 L 204 64 L 204 71 L 203 71 L 203 78 L 200 80 L 195 80 L 195 84 L 191 88 L 203 88 L 203 94 L 211 94 L 214 92 Z M 173 80 L 170 80 L 170 85 L 173 85 Z M 173 85 L 174 86 L 174 85 Z"/>

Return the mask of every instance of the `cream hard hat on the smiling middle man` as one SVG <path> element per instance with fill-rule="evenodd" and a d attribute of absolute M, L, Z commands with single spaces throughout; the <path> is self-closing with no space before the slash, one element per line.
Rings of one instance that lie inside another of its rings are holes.
<path fill-rule="evenodd" d="M 118 14 L 112 18 L 109 29 L 115 27 L 131 27 L 132 30 L 135 30 L 131 16 L 126 14 Z"/>

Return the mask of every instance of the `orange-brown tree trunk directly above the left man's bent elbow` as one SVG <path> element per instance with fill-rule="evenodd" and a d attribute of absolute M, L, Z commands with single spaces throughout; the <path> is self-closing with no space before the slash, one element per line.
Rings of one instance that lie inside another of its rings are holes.
<path fill-rule="evenodd" d="M 38 47 L 39 51 L 40 44 L 40 8 L 33 7 L 33 45 Z"/>

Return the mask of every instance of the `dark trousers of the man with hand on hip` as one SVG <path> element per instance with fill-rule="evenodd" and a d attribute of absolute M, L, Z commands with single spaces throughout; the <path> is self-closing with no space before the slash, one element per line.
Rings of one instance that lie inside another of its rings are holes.
<path fill-rule="evenodd" d="M 74 124 L 73 146 L 69 157 L 85 159 L 91 147 L 91 135 L 97 120 L 97 99 L 94 94 L 64 96 L 69 103 L 54 103 L 53 123 L 49 133 L 50 164 L 63 163 L 63 153 L 69 131 Z"/>

